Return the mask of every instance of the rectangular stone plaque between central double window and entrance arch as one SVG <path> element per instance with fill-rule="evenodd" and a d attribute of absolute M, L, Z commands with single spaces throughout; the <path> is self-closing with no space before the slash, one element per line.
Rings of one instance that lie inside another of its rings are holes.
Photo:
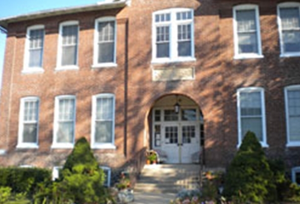
<path fill-rule="evenodd" d="M 152 70 L 153 81 L 193 80 L 195 79 L 195 68 L 164 68 Z"/>

